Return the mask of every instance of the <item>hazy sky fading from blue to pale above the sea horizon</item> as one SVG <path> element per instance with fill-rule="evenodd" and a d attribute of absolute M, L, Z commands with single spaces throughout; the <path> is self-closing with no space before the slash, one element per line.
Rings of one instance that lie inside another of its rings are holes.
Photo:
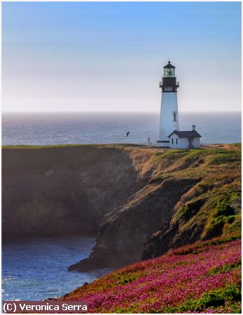
<path fill-rule="evenodd" d="M 171 59 L 179 111 L 241 106 L 241 3 L 2 3 L 3 111 L 159 111 Z"/>

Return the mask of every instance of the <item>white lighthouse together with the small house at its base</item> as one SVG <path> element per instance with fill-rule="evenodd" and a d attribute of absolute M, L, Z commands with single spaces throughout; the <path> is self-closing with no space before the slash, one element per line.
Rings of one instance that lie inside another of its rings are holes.
<path fill-rule="evenodd" d="M 179 130 L 179 113 L 177 104 L 177 88 L 175 66 L 170 61 L 164 66 L 164 75 L 160 81 L 162 90 L 160 108 L 160 133 L 157 146 L 162 148 L 199 148 L 200 134 L 195 125 L 190 131 Z"/>

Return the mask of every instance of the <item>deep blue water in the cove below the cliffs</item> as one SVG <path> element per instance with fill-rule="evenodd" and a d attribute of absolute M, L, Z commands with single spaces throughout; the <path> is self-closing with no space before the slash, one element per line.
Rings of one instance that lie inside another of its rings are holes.
<path fill-rule="evenodd" d="M 48 237 L 8 241 L 2 246 L 2 299 L 44 300 L 69 293 L 109 272 L 68 272 L 88 257 L 95 237 Z"/>

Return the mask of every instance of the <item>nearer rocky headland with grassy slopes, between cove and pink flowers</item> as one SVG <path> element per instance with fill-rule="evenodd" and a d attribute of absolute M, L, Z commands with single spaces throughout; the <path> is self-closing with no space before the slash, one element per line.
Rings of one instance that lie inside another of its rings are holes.
<path fill-rule="evenodd" d="M 148 183 L 106 214 L 90 258 L 69 269 L 120 267 L 239 231 L 240 160 L 238 146 L 155 151 Z"/>

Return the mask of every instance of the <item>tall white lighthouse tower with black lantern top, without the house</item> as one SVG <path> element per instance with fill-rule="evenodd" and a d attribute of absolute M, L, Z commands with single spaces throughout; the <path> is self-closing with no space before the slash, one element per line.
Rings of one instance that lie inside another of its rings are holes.
<path fill-rule="evenodd" d="M 162 90 L 160 109 L 160 134 L 157 146 L 169 148 L 169 134 L 179 131 L 179 116 L 177 104 L 177 87 L 175 66 L 170 61 L 164 66 L 164 76 L 160 81 Z"/>

